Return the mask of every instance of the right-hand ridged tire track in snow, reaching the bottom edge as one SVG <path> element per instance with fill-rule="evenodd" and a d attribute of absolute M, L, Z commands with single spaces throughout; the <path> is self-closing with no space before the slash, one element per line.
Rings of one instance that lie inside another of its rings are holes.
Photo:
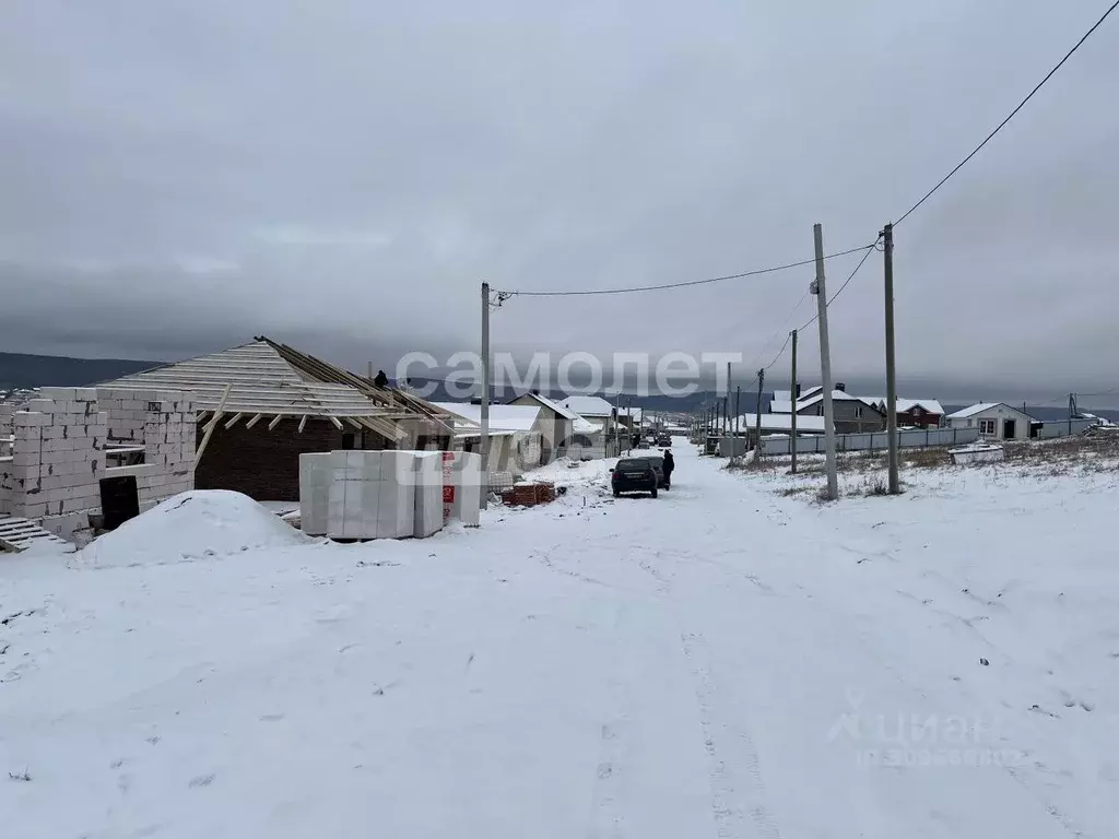
<path fill-rule="evenodd" d="M 684 657 L 695 680 L 699 727 L 707 752 L 711 781 L 712 813 L 718 839 L 742 839 L 745 812 L 750 813 L 754 829 L 750 831 L 763 839 L 781 839 L 781 830 L 765 805 L 765 782 L 762 780 L 758 750 L 745 728 L 731 728 L 716 713 L 715 682 L 707 661 L 707 641 L 702 633 L 680 633 Z M 744 770 L 737 780 L 731 762 Z M 740 795 L 746 811 L 743 812 Z"/>

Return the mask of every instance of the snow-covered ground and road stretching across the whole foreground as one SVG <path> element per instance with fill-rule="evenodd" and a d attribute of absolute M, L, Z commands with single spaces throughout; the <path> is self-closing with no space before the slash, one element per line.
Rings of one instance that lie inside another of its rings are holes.
<path fill-rule="evenodd" d="M 820 506 L 674 451 L 426 540 L 196 499 L 4 557 L 0 835 L 1116 836 L 1117 473 Z"/>

